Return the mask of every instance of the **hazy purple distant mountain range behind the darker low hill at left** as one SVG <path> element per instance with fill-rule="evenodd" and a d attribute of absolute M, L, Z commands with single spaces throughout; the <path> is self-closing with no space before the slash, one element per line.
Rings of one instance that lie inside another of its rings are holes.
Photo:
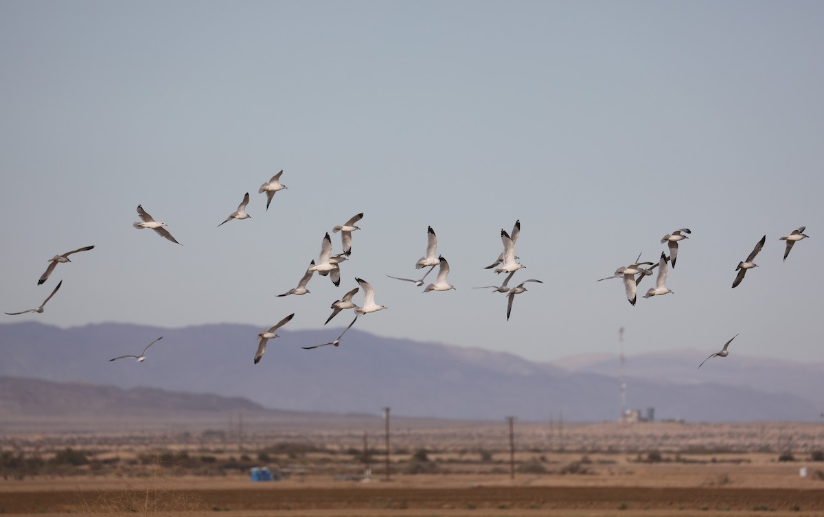
<path fill-rule="evenodd" d="M 239 324 L 2 324 L 0 375 L 242 397 L 262 408 L 301 412 L 375 414 L 390 406 L 393 414 L 408 417 L 498 420 L 514 415 L 545 421 L 563 413 L 564 420 L 578 422 L 614 420 L 620 412 L 617 358 L 579 356 L 538 364 L 503 352 L 380 338 L 356 325 L 340 347 L 311 351 L 300 347 L 330 341 L 340 328 L 281 328 L 281 338 L 270 341 L 254 365 L 260 330 Z M 159 336 L 162 342 L 143 363 L 108 361 L 141 352 Z M 824 366 L 733 361 L 731 355 L 697 370 L 704 359 L 699 352 L 627 358 L 628 405 L 653 407 L 658 418 L 690 422 L 820 420 Z M 558 366 L 563 364 L 574 370 Z M 171 396 L 152 394 L 152 404 Z M 209 404 L 208 399 L 198 403 Z M 128 406 L 129 398 L 118 404 Z"/>

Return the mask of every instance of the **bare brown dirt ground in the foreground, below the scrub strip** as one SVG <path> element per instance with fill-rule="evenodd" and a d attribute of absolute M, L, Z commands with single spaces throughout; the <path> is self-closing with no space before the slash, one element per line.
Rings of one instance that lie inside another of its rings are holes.
<path fill-rule="evenodd" d="M 105 477 L 0 482 L 4 515 L 822 515 L 824 482 L 784 465 L 645 466 L 622 476 L 398 476 L 250 482 Z M 770 482 L 771 480 L 771 482 Z M 771 487 L 770 487 L 771 485 Z"/>

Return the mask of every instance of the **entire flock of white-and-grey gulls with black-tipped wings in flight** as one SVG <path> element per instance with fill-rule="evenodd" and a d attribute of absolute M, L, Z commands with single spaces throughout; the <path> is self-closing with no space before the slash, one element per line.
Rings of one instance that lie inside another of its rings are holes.
<path fill-rule="evenodd" d="M 272 198 L 274 198 L 274 194 L 278 193 L 280 190 L 288 189 L 288 187 L 284 184 L 280 183 L 280 177 L 283 175 L 283 170 L 281 170 L 278 174 L 272 176 L 268 182 L 262 184 L 258 193 L 265 193 L 266 194 L 266 210 L 269 211 L 269 205 L 272 203 Z M 229 217 L 226 218 L 225 221 L 222 221 L 218 227 L 226 224 L 228 221 L 232 221 L 232 219 L 236 219 L 238 221 L 242 221 L 244 219 L 248 219 L 251 216 L 246 212 L 246 207 L 249 204 L 249 193 L 247 192 L 243 196 L 243 201 L 237 207 L 235 212 L 232 212 Z M 142 205 L 138 205 L 137 208 L 138 217 L 140 217 L 140 222 L 133 223 L 134 228 L 138 230 L 142 229 L 151 229 L 157 232 L 157 235 L 161 235 L 164 239 L 170 240 L 171 242 L 180 245 L 180 243 L 175 239 L 171 233 L 166 230 L 164 226 L 166 226 L 165 222 L 155 220 L 148 212 L 143 209 Z M 341 252 L 338 254 L 333 254 L 333 246 L 332 240 L 330 238 L 329 232 L 326 232 L 323 239 L 321 240 L 321 252 L 318 254 L 317 261 L 312 260 L 309 263 L 309 267 L 307 268 L 306 272 L 303 273 L 300 281 L 297 282 L 297 286 L 293 289 L 290 289 L 287 292 L 284 292 L 278 296 L 302 296 L 309 294 L 309 290 L 307 289 L 307 285 L 311 278 L 314 276 L 315 273 L 324 277 L 330 277 L 331 282 L 335 286 L 340 285 L 340 264 L 346 260 L 349 260 L 349 257 L 352 254 L 352 233 L 353 231 L 358 231 L 360 228 L 356 226 L 356 223 L 363 218 L 363 212 L 358 213 L 351 217 L 349 221 L 344 222 L 342 225 L 334 226 L 332 228 L 332 233 L 340 232 L 341 235 Z M 809 235 L 803 233 L 805 230 L 805 226 L 801 226 L 798 229 L 792 231 L 790 235 L 784 235 L 780 237 L 780 240 L 786 241 L 786 248 L 784 250 L 784 261 L 786 261 L 787 256 L 791 249 L 793 249 L 793 245 L 798 240 L 803 240 L 808 238 Z M 650 276 L 653 274 L 653 269 L 658 268 L 658 277 L 656 277 L 655 286 L 650 287 L 644 298 L 650 298 L 653 296 L 662 296 L 666 294 L 672 293 L 672 290 L 667 287 L 667 275 L 669 273 L 669 269 L 672 267 L 675 268 L 677 256 L 678 256 L 678 243 L 681 240 L 688 239 L 688 235 L 691 235 L 691 231 L 687 228 L 681 228 L 680 230 L 673 231 L 672 234 L 664 235 L 661 239 L 661 244 L 666 243 L 667 249 L 669 251 L 669 255 L 667 256 L 666 253 L 662 252 L 661 258 L 658 260 L 658 263 L 652 262 L 639 262 L 640 261 L 640 254 L 637 259 L 635 259 L 634 263 L 631 263 L 628 266 L 617 268 L 616 272 L 611 277 L 601 278 L 597 282 L 601 282 L 603 280 L 607 280 L 610 278 L 621 278 L 624 281 L 625 286 L 625 295 L 627 300 L 629 300 L 631 305 L 635 305 L 636 296 L 637 296 L 637 288 L 639 283 L 644 279 L 644 277 Z M 525 266 L 522 263 L 517 262 L 519 257 L 515 254 L 515 243 L 518 240 L 518 237 L 521 235 L 521 221 L 518 220 L 515 222 L 515 226 L 513 226 L 513 230 L 511 233 L 507 233 L 505 230 L 501 230 L 501 242 L 503 244 L 503 251 L 499 254 L 498 258 L 495 259 L 494 263 L 487 266 L 485 269 L 493 269 L 496 273 L 507 273 L 507 276 L 504 278 L 503 283 L 500 286 L 480 286 L 480 287 L 473 287 L 474 289 L 492 289 L 492 292 L 499 292 L 507 295 L 508 303 L 507 303 L 507 320 L 510 318 L 513 309 L 513 301 L 516 295 L 522 294 L 527 292 L 527 288 L 524 286 L 527 282 L 536 282 L 536 283 L 543 283 L 541 280 L 536 280 L 535 278 L 530 278 L 524 280 L 517 284 L 517 286 L 509 287 L 508 284 L 512 280 L 515 273 L 519 270 L 524 268 Z M 738 263 L 736 271 L 737 276 L 733 281 L 733 288 L 738 286 L 742 280 L 744 279 L 744 275 L 747 273 L 747 270 L 758 267 L 755 262 L 753 262 L 756 258 L 756 255 L 761 251 L 766 241 L 766 235 L 761 237 L 761 240 L 758 241 L 756 247 L 752 249 L 751 253 L 747 255 L 747 259 L 743 260 Z M 59 263 L 68 263 L 71 262 L 69 256 L 72 254 L 77 254 L 83 251 L 90 251 L 95 247 L 92 246 L 85 246 L 82 248 L 74 249 L 72 251 L 68 251 L 64 254 L 55 255 L 52 259 L 49 259 L 49 266 L 46 268 L 43 275 L 40 276 L 37 284 L 42 285 L 46 282 L 51 274 L 54 272 L 54 269 L 57 267 Z M 646 267 L 644 267 L 646 266 Z M 442 255 L 438 254 L 438 236 L 435 234 L 432 226 L 428 226 L 427 229 L 427 247 L 426 247 L 426 254 L 423 257 L 418 259 L 415 263 L 416 269 L 424 269 L 428 268 L 427 271 L 424 273 L 423 277 L 412 279 L 412 278 L 403 278 L 403 277 L 393 277 L 391 275 L 386 275 L 387 277 L 394 278 L 396 280 L 400 280 L 402 282 L 411 282 L 414 286 L 424 286 L 424 281 L 426 277 L 428 277 L 429 273 L 433 271 L 434 268 L 438 267 L 438 277 L 436 278 L 434 283 L 428 284 L 424 287 L 424 293 L 428 293 L 431 291 L 451 291 L 455 289 L 455 286 L 452 286 L 448 282 L 449 276 L 449 263 L 447 259 L 445 259 Z M 340 340 L 344 337 L 344 334 L 352 328 L 353 324 L 358 320 L 359 317 L 363 316 L 364 314 L 370 314 L 373 312 L 377 312 L 379 310 L 386 309 L 385 305 L 379 305 L 375 302 L 375 289 L 372 285 L 363 280 L 363 278 L 355 278 L 356 282 L 358 282 L 358 287 L 355 287 L 351 291 L 348 291 L 340 300 L 335 300 L 332 302 L 331 309 L 332 314 L 330 314 L 329 318 L 326 319 L 324 324 L 328 324 L 331 319 L 335 318 L 340 312 L 344 310 L 352 309 L 355 313 L 355 317 L 352 322 L 344 328 L 344 331 L 340 333 L 337 339 L 331 342 L 324 342 L 319 345 L 314 345 L 311 347 L 302 347 L 306 350 L 311 350 L 319 347 L 325 347 L 327 345 L 332 345 L 334 347 L 339 346 Z M 44 306 L 46 303 L 51 300 L 51 298 L 57 293 L 60 289 L 60 286 L 63 285 L 63 281 L 61 280 L 58 282 L 57 286 L 54 287 L 54 290 L 49 294 L 49 296 L 40 304 L 39 307 L 30 310 L 23 310 L 20 312 L 7 312 L 6 314 L 16 315 L 16 314 L 26 314 L 26 313 L 42 313 L 44 311 Z M 353 301 L 355 295 L 358 294 L 358 291 L 363 289 L 363 304 L 356 305 Z M 270 339 L 279 338 L 276 331 L 281 328 L 284 324 L 287 324 L 291 319 L 294 317 L 293 314 L 289 314 L 285 318 L 281 319 L 277 324 L 258 334 L 258 347 L 255 351 L 255 364 L 260 362 L 260 359 L 263 357 L 264 353 L 266 352 L 266 345 Z M 707 357 L 705 361 L 701 362 L 698 366 L 699 368 L 704 365 L 706 361 L 713 357 L 726 357 L 728 356 L 728 346 L 730 342 L 733 341 L 737 337 L 738 334 L 733 336 L 728 342 L 726 342 L 720 352 L 715 352 L 711 356 Z M 155 339 L 154 341 L 150 342 L 144 349 L 143 352 L 140 353 L 139 356 L 135 355 L 124 355 L 118 356 L 110 359 L 110 361 L 117 361 L 118 359 L 124 358 L 133 358 L 137 362 L 143 362 L 146 359 L 146 352 L 152 345 L 159 342 L 162 339 L 160 338 Z"/>

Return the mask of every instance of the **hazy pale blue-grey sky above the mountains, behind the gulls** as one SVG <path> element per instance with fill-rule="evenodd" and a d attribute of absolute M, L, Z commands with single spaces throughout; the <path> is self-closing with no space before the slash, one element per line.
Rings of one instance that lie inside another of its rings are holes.
<path fill-rule="evenodd" d="M 615 353 L 623 326 L 629 355 L 697 365 L 740 333 L 736 354 L 824 361 L 822 22 L 822 2 L 0 2 L 0 310 L 63 279 L 2 322 L 321 328 L 363 277 L 389 309 L 357 326 L 382 336 L 545 361 Z M 246 192 L 252 217 L 216 228 Z M 183 246 L 135 230 L 138 204 Z M 276 297 L 358 212 L 341 286 Z M 503 281 L 484 266 L 516 219 L 513 284 L 544 283 L 507 321 L 471 287 Z M 419 273 L 429 225 L 456 291 L 386 277 Z M 595 282 L 681 227 L 674 295 Z"/>

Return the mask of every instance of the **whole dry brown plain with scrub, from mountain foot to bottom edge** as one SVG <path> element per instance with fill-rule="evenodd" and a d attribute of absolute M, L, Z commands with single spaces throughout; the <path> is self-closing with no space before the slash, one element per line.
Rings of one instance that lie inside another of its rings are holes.
<path fill-rule="evenodd" d="M 399 418 L 386 480 L 382 419 L 238 421 L 16 422 L 0 434 L 0 513 L 824 515 L 824 425 L 517 422 L 510 463 L 506 422 Z M 282 479 L 251 482 L 255 466 Z"/>

